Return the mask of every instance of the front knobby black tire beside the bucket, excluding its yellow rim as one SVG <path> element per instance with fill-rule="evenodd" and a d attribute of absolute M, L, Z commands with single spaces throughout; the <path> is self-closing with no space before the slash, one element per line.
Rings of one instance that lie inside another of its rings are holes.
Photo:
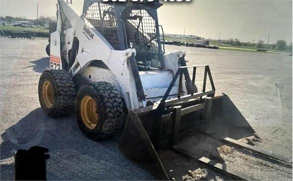
<path fill-rule="evenodd" d="M 82 101 L 86 96 L 93 98 L 96 104 L 98 123 L 94 128 L 89 128 L 82 119 Z M 108 82 L 83 85 L 77 93 L 75 109 L 79 128 L 92 140 L 100 141 L 113 136 L 125 122 L 124 102 L 117 89 Z"/>

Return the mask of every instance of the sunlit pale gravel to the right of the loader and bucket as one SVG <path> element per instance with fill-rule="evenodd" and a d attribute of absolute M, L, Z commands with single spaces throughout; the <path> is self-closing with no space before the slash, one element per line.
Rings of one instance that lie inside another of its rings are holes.
<path fill-rule="evenodd" d="M 189 65 L 210 65 L 216 92 L 227 94 L 262 138 L 257 147 L 292 157 L 292 56 L 170 45 L 166 49 L 186 51 Z"/>

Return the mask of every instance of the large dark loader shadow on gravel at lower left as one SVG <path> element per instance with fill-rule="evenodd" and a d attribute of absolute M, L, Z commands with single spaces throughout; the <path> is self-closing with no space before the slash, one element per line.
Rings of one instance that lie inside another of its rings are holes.
<path fill-rule="evenodd" d="M 0 180 L 13 180 L 15 151 L 32 146 L 49 149 L 48 180 L 153 180 L 123 156 L 117 138 L 91 141 L 79 131 L 73 116 L 52 119 L 38 108 L 1 137 Z"/>

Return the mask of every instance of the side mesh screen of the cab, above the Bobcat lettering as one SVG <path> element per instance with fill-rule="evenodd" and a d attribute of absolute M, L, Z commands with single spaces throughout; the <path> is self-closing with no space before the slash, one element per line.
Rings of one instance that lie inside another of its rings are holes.
<path fill-rule="evenodd" d="M 88 8 L 86 18 L 115 49 L 118 49 L 117 22 L 113 5 L 95 2 Z"/>

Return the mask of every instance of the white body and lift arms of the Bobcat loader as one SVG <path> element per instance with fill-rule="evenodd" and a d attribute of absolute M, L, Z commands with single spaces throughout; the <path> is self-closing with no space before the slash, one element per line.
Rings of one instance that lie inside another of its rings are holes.
<path fill-rule="evenodd" d="M 61 15 L 58 10 L 57 30 L 51 33 L 50 69 L 63 69 L 61 58 L 69 62 L 68 52 L 72 48 L 73 39 L 79 40 L 78 54 L 69 69 L 72 77 L 81 76 L 88 82 L 107 81 L 112 83 L 123 97 L 130 110 L 143 107 L 139 101 L 134 76 L 128 63 L 136 49 L 115 50 L 103 35 L 83 16 L 78 16 L 66 0 L 58 0 L 60 8 L 69 19 L 71 27 L 61 33 Z M 61 36 L 63 47 L 61 47 Z M 163 97 L 176 71 L 179 68 L 179 58 L 185 52 L 165 53 L 163 55 L 163 70 L 153 69 L 140 71 L 141 81 L 146 94 L 146 101 L 158 101 Z M 93 61 L 102 61 L 107 68 L 89 66 Z M 169 98 L 176 97 L 178 82 L 170 92 Z M 183 94 L 186 92 L 183 84 Z"/>

